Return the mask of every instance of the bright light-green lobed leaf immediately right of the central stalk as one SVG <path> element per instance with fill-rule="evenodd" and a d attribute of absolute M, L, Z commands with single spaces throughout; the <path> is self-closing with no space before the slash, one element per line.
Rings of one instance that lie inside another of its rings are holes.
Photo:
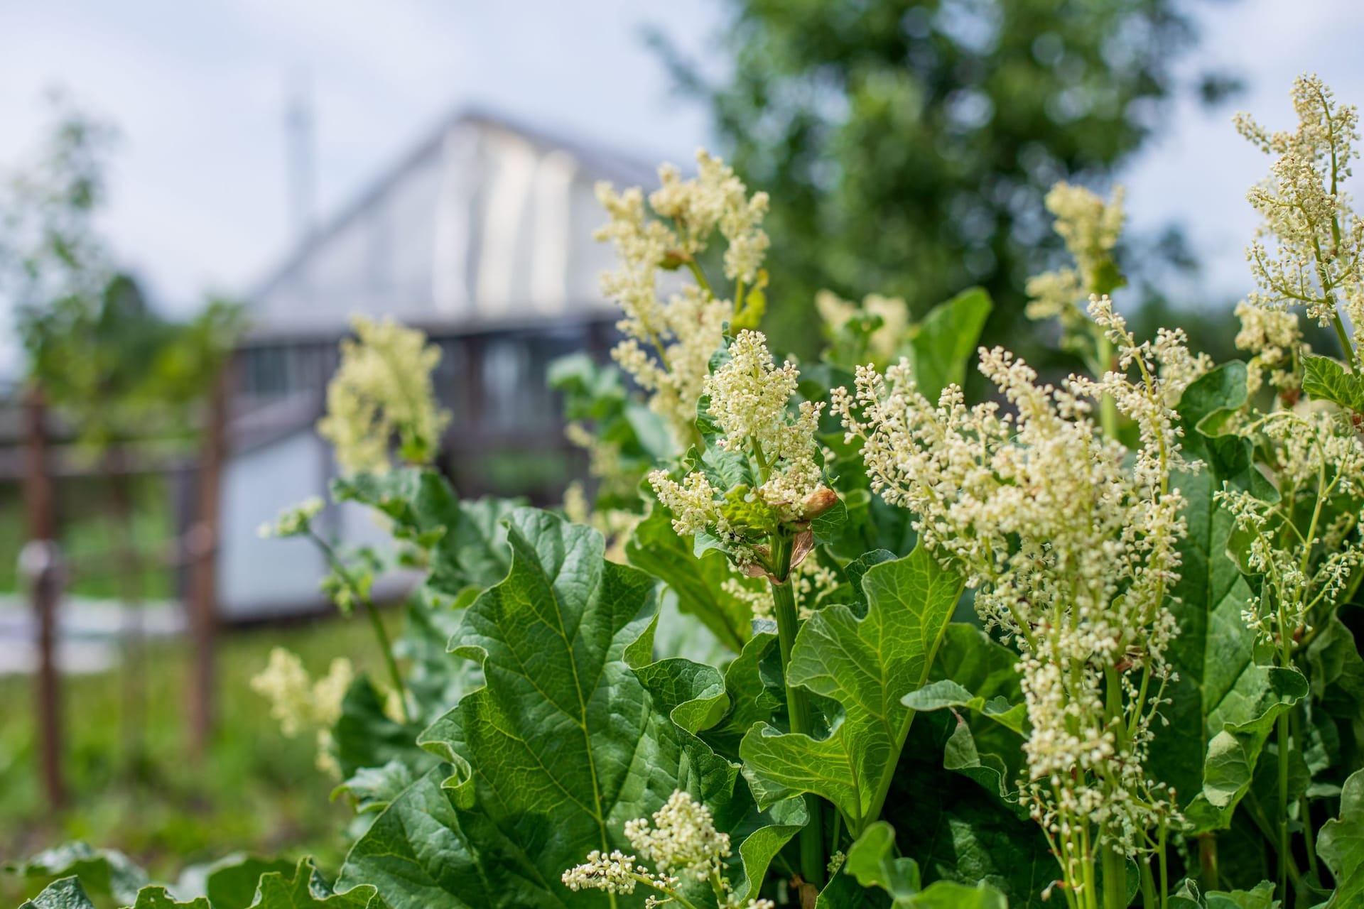
<path fill-rule="evenodd" d="M 787 680 L 836 700 L 843 717 L 824 739 L 754 726 L 739 754 L 760 805 L 799 793 L 833 803 L 857 834 L 908 735 L 913 713 L 900 703 L 929 676 L 962 593 L 962 579 L 922 546 L 869 568 L 862 578 L 866 616 L 843 605 L 816 612 L 791 649 Z"/>

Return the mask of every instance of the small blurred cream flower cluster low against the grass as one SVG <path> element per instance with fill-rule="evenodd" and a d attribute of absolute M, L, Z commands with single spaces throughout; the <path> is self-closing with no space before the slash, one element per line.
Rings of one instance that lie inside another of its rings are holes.
<path fill-rule="evenodd" d="M 333 660 L 327 675 L 314 681 L 296 653 L 274 647 L 270 662 L 251 679 L 251 690 L 270 702 L 270 715 L 285 737 L 311 729 L 318 739 L 318 767 L 338 775 L 331 726 L 341 718 L 341 702 L 353 680 L 355 671 L 344 657 Z"/>

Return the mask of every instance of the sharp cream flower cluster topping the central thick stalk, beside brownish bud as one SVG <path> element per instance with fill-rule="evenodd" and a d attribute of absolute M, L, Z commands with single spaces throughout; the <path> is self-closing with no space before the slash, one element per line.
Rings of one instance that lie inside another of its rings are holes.
<path fill-rule="evenodd" d="M 702 391 L 707 413 L 720 431 L 717 447 L 747 459 L 754 476 L 754 500 L 772 510 L 782 523 L 801 523 L 812 510 L 827 510 L 831 493 L 822 487 L 822 467 L 814 433 L 822 402 L 802 401 L 791 412 L 799 383 L 791 363 L 776 367 L 760 331 L 741 331 L 728 349 L 728 361 L 707 376 Z M 659 502 L 672 511 L 672 529 L 681 536 L 708 531 L 731 544 L 738 564 L 753 553 L 737 537 L 722 506 L 730 489 L 716 489 L 701 472 L 681 482 L 663 470 L 649 474 Z"/>

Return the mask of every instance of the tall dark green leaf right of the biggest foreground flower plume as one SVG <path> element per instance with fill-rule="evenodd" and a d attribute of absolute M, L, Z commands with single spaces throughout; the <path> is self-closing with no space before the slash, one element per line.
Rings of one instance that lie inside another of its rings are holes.
<path fill-rule="evenodd" d="M 1254 469 L 1249 442 L 1196 428 L 1244 402 L 1245 365 L 1229 363 L 1191 384 L 1178 406 L 1185 454 L 1203 469 L 1177 474 L 1188 534 L 1170 590 L 1180 634 L 1168 657 L 1178 679 L 1166 691 L 1168 725 L 1155 726 L 1148 769 L 1176 790 L 1199 830 L 1230 822 L 1274 718 L 1305 695 L 1299 673 L 1256 664 L 1255 634 L 1241 619 L 1252 591 L 1226 552 L 1232 518 L 1214 500 L 1224 482 L 1266 497 L 1273 489 Z"/>

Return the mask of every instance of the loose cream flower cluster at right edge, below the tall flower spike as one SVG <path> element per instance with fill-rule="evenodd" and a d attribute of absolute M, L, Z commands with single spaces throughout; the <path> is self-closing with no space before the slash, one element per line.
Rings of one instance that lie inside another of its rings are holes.
<path fill-rule="evenodd" d="M 1364 564 L 1359 496 L 1364 493 L 1364 447 L 1352 427 L 1333 414 L 1279 410 L 1262 424 L 1273 447 L 1278 502 L 1225 487 L 1218 502 L 1248 538 L 1247 568 L 1262 576 L 1259 596 L 1247 601 L 1241 619 L 1284 657 L 1312 632 L 1318 606 L 1331 606 Z M 1311 504 L 1305 529 L 1303 503 Z M 1346 507 L 1333 514 L 1338 503 Z"/>

